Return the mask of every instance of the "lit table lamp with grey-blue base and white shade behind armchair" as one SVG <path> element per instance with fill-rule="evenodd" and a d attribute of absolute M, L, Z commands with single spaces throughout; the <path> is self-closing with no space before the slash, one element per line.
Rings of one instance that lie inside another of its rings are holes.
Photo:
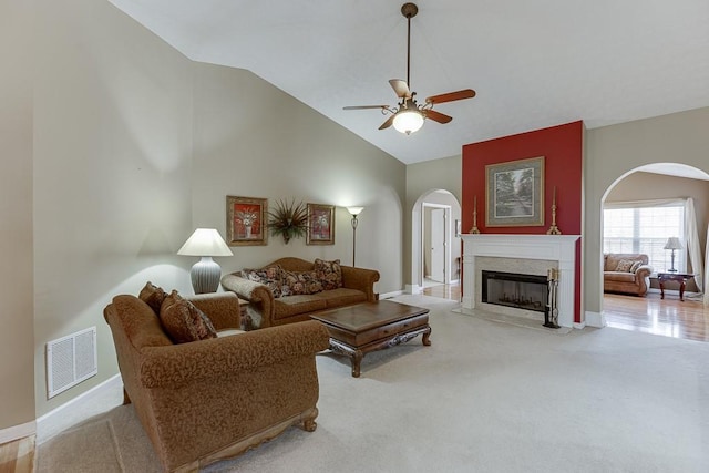
<path fill-rule="evenodd" d="M 212 257 L 234 254 L 216 229 L 197 228 L 177 255 L 202 257 L 189 270 L 189 278 L 195 294 L 204 294 L 216 292 L 222 277 L 222 268 Z"/>

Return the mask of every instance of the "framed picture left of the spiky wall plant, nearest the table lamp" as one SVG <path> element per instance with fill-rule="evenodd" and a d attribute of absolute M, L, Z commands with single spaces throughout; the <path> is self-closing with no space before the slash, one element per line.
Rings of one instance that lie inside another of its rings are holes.
<path fill-rule="evenodd" d="M 226 196 L 226 238 L 229 246 L 268 244 L 268 200 Z"/>

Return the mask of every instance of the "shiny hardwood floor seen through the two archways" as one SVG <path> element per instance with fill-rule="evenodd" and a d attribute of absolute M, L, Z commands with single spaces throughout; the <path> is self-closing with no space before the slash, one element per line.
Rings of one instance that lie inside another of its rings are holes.
<path fill-rule="evenodd" d="M 458 284 L 427 287 L 423 294 L 461 300 Z M 680 301 L 676 291 L 667 291 L 665 299 L 660 299 L 659 292 L 648 292 L 646 297 L 606 294 L 603 311 L 608 327 L 709 341 L 709 309 L 700 300 Z"/>

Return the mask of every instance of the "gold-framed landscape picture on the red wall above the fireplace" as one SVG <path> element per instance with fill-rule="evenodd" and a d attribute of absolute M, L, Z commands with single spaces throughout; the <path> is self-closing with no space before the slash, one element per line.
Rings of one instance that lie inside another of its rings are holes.
<path fill-rule="evenodd" d="M 544 225 L 544 156 L 485 166 L 485 226 Z"/>

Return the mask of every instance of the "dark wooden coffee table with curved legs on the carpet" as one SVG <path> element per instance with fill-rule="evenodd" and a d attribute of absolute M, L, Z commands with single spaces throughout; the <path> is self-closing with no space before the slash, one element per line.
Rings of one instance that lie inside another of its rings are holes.
<path fill-rule="evenodd" d="M 327 327 L 330 350 L 350 358 L 354 378 L 359 378 L 362 358 L 370 351 L 404 343 L 418 335 L 423 335 L 423 345 L 431 345 L 429 309 L 423 307 L 379 300 L 310 317 Z"/>

